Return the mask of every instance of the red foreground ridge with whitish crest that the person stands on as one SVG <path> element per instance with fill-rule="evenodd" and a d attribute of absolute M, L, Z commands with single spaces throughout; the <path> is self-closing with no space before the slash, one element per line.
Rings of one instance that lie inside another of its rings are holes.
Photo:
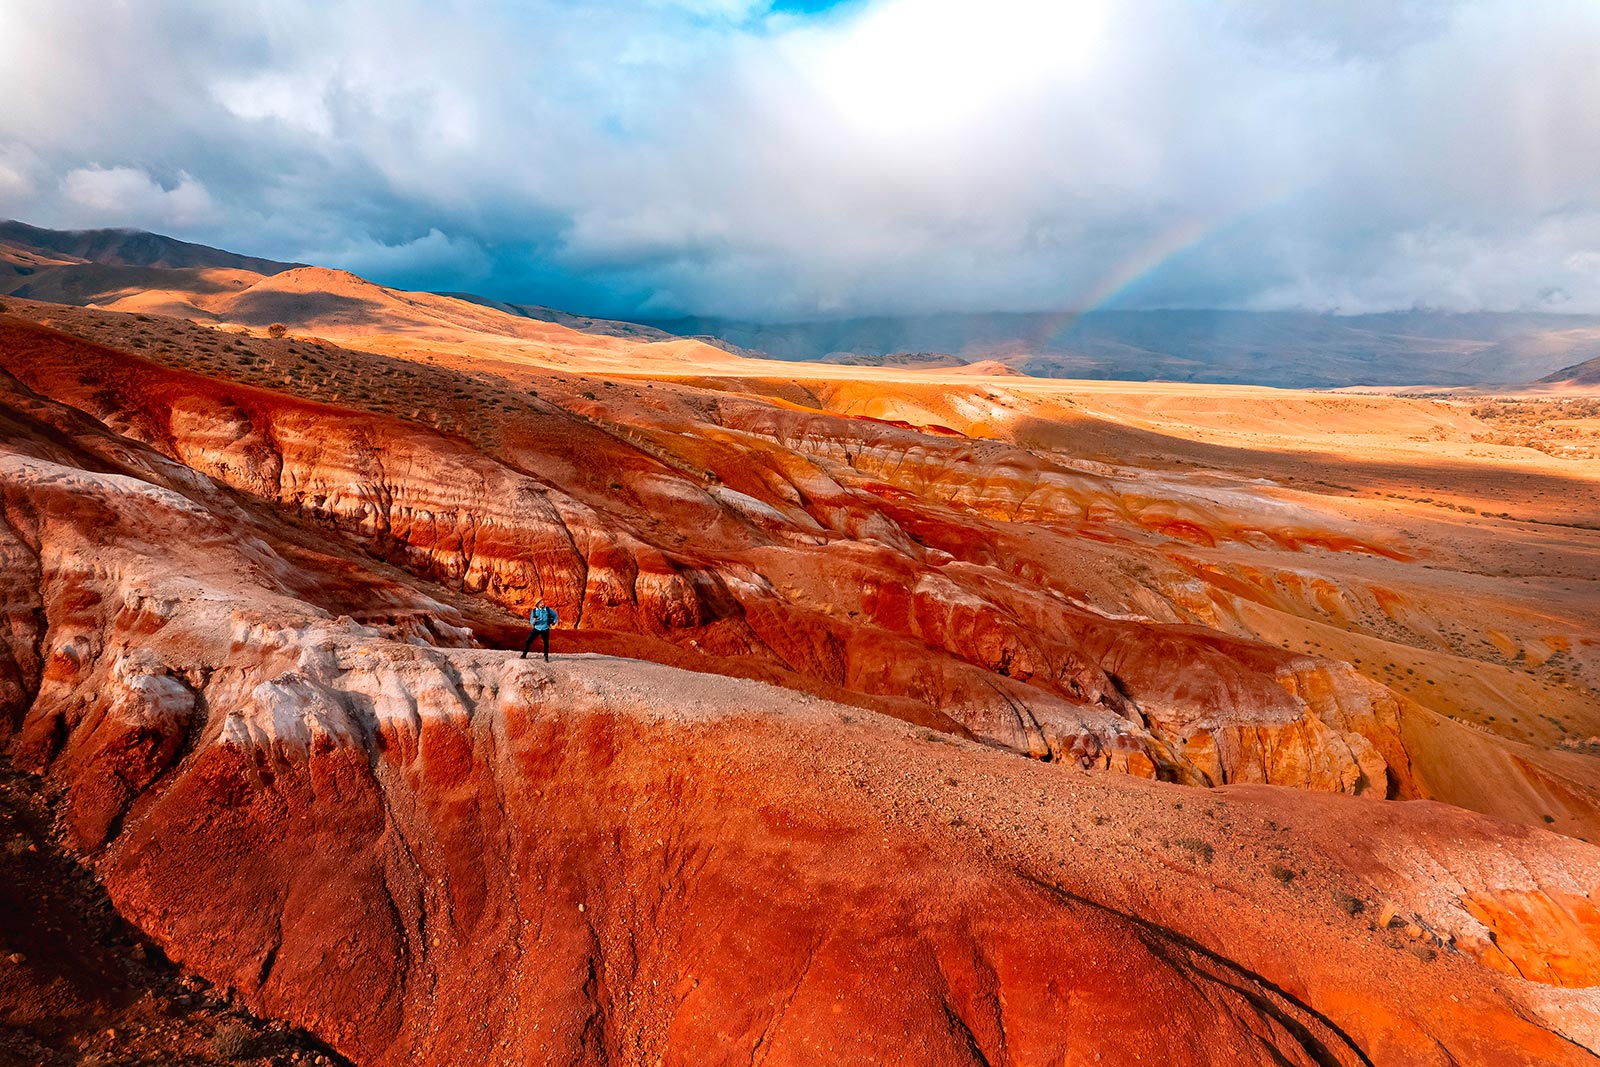
<path fill-rule="evenodd" d="M 69 432 L 5 456 L 43 662 L 8 749 L 125 917 L 357 1062 L 1590 1061 L 1586 1001 L 1506 974 L 1594 981 L 1595 931 L 1526 905 L 1594 885 L 1586 845 L 445 648 L 402 587 L 363 625 L 307 598 L 336 560 L 34 414 Z M 1512 909 L 1558 942 L 1494 949 Z"/>

